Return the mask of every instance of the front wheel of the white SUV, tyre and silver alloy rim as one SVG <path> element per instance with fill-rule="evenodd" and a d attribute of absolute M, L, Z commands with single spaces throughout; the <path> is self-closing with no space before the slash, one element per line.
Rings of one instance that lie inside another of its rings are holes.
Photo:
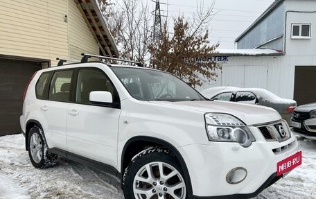
<path fill-rule="evenodd" d="M 132 159 L 123 175 L 125 198 L 187 198 L 183 171 L 166 148 L 148 148 Z"/>

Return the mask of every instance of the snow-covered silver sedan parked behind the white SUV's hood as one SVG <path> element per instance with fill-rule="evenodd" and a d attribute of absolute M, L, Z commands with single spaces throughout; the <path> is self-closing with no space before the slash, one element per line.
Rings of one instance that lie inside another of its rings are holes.
<path fill-rule="evenodd" d="M 213 88 L 211 88 L 213 89 Z M 288 124 L 291 124 L 291 116 L 297 102 L 291 99 L 281 98 L 266 89 L 258 88 L 226 88 L 223 87 L 218 92 L 210 93 L 209 89 L 204 89 L 200 92 L 204 97 L 211 100 L 218 101 L 232 101 L 238 103 L 256 104 L 264 105 L 267 107 L 272 107 L 281 114 L 282 118 L 285 119 Z"/>

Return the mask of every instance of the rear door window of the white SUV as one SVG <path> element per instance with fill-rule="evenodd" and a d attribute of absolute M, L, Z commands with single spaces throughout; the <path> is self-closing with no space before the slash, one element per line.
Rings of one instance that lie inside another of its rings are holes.
<path fill-rule="evenodd" d="M 71 77 L 73 71 L 55 71 L 49 87 L 49 99 L 70 101 Z"/>

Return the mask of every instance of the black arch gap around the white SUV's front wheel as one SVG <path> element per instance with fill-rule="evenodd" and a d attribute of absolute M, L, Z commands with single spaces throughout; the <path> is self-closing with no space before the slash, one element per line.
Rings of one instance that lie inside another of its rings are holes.
<path fill-rule="evenodd" d="M 179 162 L 184 172 L 184 179 L 186 180 L 188 194 L 189 195 L 192 194 L 193 190 L 192 190 L 190 174 L 188 173 L 188 168 L 186 166 L 186 163 L 184 162 L 182 155 L 179 153 L 177 148 L 175 148 L 175 146 L 168 143 L 168 141 L 164 141 L 163 139 L 159 139 L 155 137 L 146 137 L 146 136 L 137 136 L 137 137 L 132 137 L 131 139 L 129 139 L 125 143 L 125 146 L 122 150 L 121 173 L 122 174 L 124 173 L 125 168 L 130 163 L 130 160 L 132 159 L 132 157 L 140 153 L 143 150 L 143 148 L 146 148 L 146 146 L 165 147 L 165 148 L 168 148 L 173 155 L 175 155 L 177 161 Z M 121 180 L 121 182 L 123 182 L 123 180 Z"/>

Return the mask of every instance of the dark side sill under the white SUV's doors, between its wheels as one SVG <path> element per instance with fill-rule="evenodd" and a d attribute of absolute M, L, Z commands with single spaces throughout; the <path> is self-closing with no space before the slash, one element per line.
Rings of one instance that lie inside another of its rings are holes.
<path fill-rule="evenodd" d="M 93 159 L 89 159 L 87 157 L 82 157 L 80 155 L 76 155 L 73 153 L 69 153 L 66 150 L 62 150 L 60 148 L 49 148 L 50 153 L 54 153 L 56 155 L 60 155 L 61 157 L 65 157 L 67 159 L 70 159 L 74 162 L 79 162 L 81 164 L 85 164 L 87 166 L 90 166 L 92 168 L 96 168 L 100 171 L 104 171 L 105 173 L 109 173 L 111 175 L 114 175 L 116 178 L 118 178 L 120 181 L 122 179 L 121 173 L 116 170 L 113 166 L 109 166 L 108 164 L 104 164 L 102 162 L 95 161 Z"/>

